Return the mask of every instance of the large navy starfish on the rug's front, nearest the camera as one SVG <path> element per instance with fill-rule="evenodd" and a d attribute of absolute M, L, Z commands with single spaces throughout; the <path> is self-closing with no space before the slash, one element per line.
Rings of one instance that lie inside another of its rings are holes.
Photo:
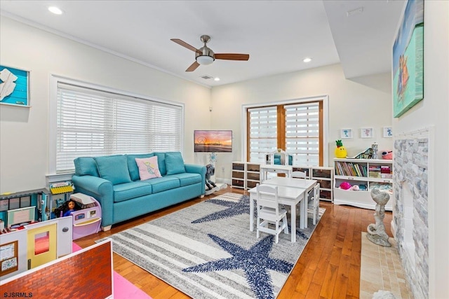
<path fill-rule="evenodd" d="M 232 258 L 222 258 L 188 267 L 182 269 L 183 272 L 211 272 L 240 269 L 245 272 L 246 281 L 248 281 L 256 298 L 275 298 L 272 278 L 268 270 L 288 273 L 294 265 L 285 260 L 269 257 L 269 253 L 273 247 L 274 237 L 272 235 L 264 237 L 264 239 L 251 246 L 248 250 L 215 235 L 208 234 L 208 236 L 220 245 L 222 249 L 231 253 Z"/>

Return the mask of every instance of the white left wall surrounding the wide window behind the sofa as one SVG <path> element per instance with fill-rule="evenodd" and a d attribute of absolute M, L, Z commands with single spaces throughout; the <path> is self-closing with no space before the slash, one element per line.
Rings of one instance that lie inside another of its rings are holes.
<path fill-rule="evenodd" d="M 136 45 L 138 46 L 138 45 Z M 186 162 L 195 162 L 194 128 L 210 127 L 210 89 L 44 32 L 3 15 L 0 64 L 27 69 L 31 108 L 0 105 L 0 193 L 43 188 L 48 174 L 51 74 L 185 103 Z"/>

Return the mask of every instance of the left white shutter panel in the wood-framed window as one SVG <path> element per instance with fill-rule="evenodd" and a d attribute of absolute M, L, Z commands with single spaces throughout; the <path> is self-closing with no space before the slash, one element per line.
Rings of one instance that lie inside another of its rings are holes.
<path fill-rule="evenodd" d="M 248 109 L 250 162 L 264 162 L 265 153 L 277 148 L 276 106 Z"/>

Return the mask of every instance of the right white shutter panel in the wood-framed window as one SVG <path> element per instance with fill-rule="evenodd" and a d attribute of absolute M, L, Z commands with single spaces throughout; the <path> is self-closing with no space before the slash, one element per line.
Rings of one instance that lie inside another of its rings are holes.
<path fill-rule="evenodd" d="M 284 106 L 286 152 L 294 154 L 295 165 L 319 166 L 319 103 Z"/>

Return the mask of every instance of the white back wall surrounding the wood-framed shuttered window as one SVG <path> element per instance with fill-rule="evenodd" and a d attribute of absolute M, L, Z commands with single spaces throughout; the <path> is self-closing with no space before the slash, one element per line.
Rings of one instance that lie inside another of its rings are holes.
<path fill-rule="evenodd" d="M 230 162 L 242 160 L 242 105 L 280 102 L 289 99 L 329 97 L 329 150 L 328 163 L 333 166 L 335 140 L 340 138 L 342 128 L 351 128 L 354 138 L 343 139 L 348 155 L 370 148 L 374 141 L 380 151 L 392 149 L 391 138 L 382 137 L 382 127 L 391 127 L 391 76 L 375 76 L 375 85 L 371 88 L 344 78 L 340 64 L 319 67 L 307 71 L 280 74 L 241 83 L 222 85 L 212 90 L 213 127 L 231 129 L 234 134 L 232 155 L 221 154 L 217 161 L 215 174 L 218 177 L 231 177 Z M 373 127 L 374 137 L 360 138 L 361 127 Z M 328 165 L 323 165 L 328 166 Z M 222 174 L 222 167 L 225 173 Z"/>

